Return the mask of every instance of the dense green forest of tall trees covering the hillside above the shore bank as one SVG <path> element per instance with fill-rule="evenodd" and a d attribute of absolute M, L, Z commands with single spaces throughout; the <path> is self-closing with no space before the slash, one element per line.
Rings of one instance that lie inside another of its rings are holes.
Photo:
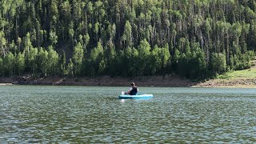
<path fill-rule="evenodd" d="M 0 75 L 178 73 L 250 67 L 254 0 L 0 0 Z"/>

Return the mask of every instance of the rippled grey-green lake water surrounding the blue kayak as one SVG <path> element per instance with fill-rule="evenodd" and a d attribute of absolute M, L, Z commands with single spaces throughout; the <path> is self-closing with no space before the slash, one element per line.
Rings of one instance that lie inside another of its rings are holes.
<path fill-rule="evenodd" d="M 1 143 L 253 143 L 256 90 L 0 86 Z"/>

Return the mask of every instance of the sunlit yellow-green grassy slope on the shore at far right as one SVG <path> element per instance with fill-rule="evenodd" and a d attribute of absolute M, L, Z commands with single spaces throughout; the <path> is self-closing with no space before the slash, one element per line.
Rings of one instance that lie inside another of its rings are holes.
<path fill-rule="evenodd" d="M 246 70 L 230 71 L 225 74 L 218 75 L 218 78 L 228 80 L 256 78 L 256 67 L 251 67 Z"/>

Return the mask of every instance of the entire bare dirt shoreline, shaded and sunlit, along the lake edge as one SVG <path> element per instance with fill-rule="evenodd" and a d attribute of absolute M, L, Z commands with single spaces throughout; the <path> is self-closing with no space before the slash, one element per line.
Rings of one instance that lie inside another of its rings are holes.
<path fill-rule="evenodd" d="M 206 82 L 192 82 L 190 79 L 178 76 L 143 76 L 122 78 L 110 76 L 98 77 L 46 77 L 30 76 L 0 78 L 0 86 L 38 85 L 38 86 L 130 86 L 135 82 L 143 87 L 216 87 L 216 88 L 256 88 L 256 78 L 237 78 L 233 80 L 210 79 Z"/>

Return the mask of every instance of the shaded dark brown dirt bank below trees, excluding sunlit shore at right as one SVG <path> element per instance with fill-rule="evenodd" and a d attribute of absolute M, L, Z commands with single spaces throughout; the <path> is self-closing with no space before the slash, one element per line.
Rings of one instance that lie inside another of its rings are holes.
<path fill-rule="evenodd" d="M 165 86 L 165 87 L 190 87 L 196 85 L 186 78 L 178 76 L 150 76 L 138 78 L 122 78 L 110 76 L 101 77 L 77 77 L 77 78 L 33 78 L 29 76 L 0 78 L 0 83 L 18 84 L 18 85 L 55 85 L 55 86 L 130 86 L 131 82 L 135 82 L 137 86 Z"/>

